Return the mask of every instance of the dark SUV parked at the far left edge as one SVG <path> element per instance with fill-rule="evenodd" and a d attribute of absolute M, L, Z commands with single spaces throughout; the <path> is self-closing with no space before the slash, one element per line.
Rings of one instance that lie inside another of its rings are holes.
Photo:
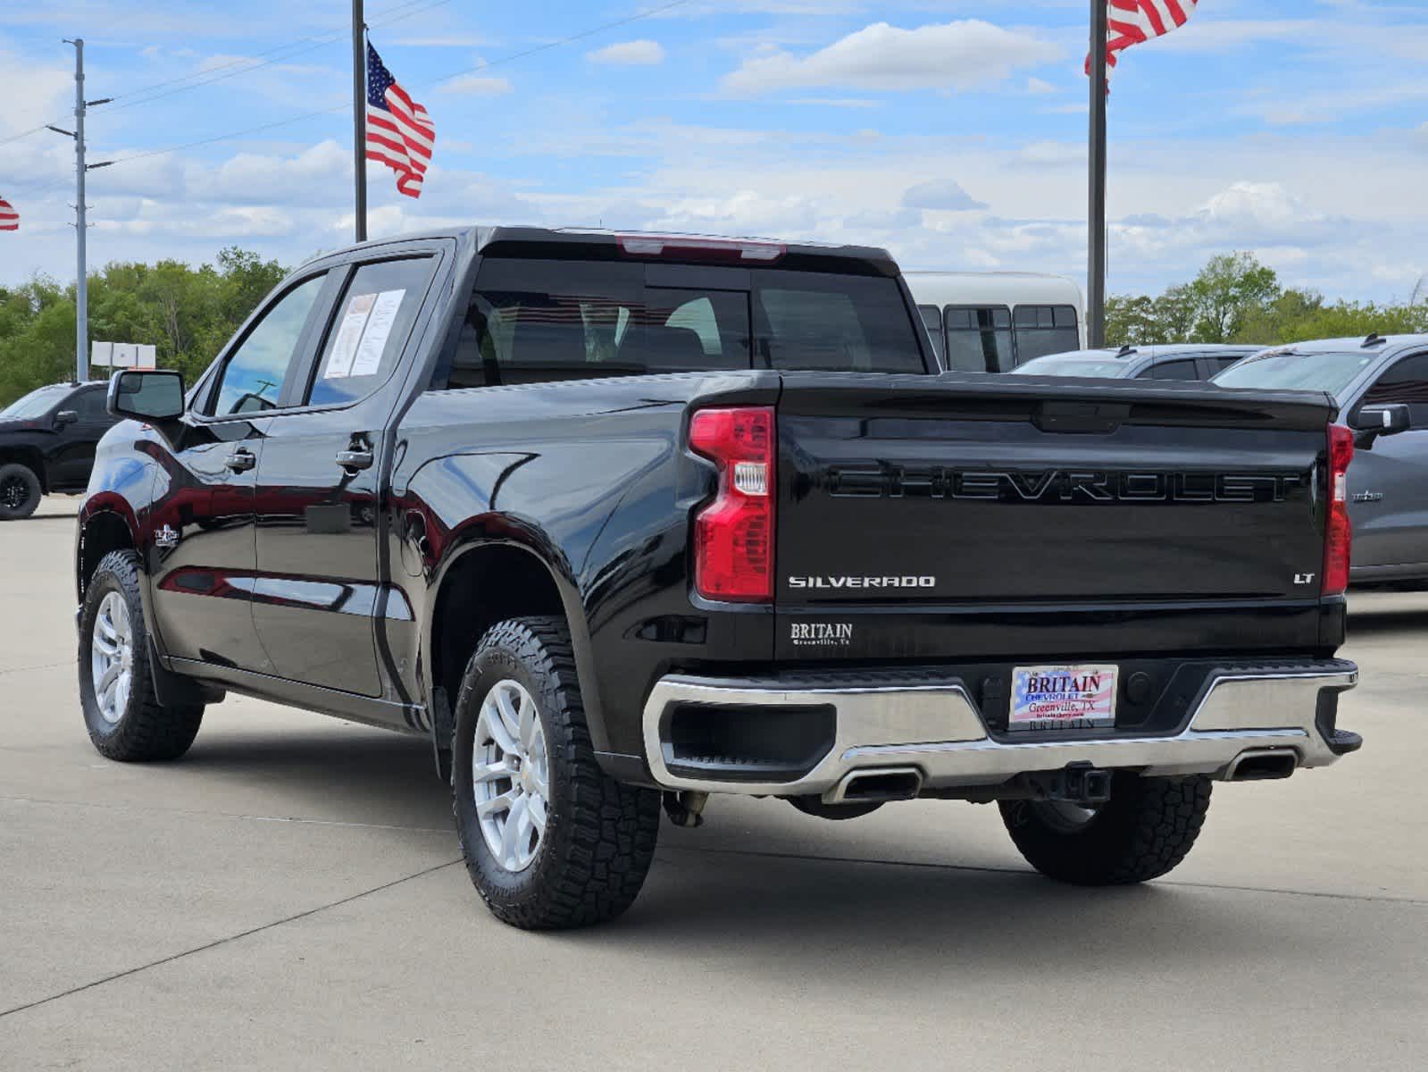
<path fill-rule="evenodd" d="M 29 517 L 40 496 L 79 495 L 114 417 L 104 383 L 51 383 L 0 410 L 0 520 Z"/>

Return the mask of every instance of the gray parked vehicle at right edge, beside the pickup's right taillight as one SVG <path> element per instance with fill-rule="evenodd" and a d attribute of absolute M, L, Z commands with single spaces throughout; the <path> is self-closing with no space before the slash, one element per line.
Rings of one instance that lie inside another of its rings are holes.
<path fill-rule="evenodd" d="M 1352 582 L 1428 583 L 1428 334 L 1281 346 L 1214 383 L 1332 394 L 1355 435 L 1348 470 Z"/>

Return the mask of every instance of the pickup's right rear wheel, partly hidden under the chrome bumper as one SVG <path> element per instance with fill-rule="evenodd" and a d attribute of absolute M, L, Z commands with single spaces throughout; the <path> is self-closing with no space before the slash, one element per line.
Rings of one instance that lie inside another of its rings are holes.
<path fill-rule="evenodd" d="M 1160 878 L 1190 852 L 1210 810 L 1210 779 L 1117 772 L 1111 799 L 1094 808 L 1001 800 L 1001 820 L 1027 863 L 1078 886 Z"/>

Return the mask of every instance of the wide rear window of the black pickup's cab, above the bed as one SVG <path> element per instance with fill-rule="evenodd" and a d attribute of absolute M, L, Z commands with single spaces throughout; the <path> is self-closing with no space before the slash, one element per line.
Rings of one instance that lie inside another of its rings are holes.
<path fill-rule="evenodd" d="M 895 280 L 670 269 L 487 259 L 447 386 L 750 367 L 927 370 Z"/>

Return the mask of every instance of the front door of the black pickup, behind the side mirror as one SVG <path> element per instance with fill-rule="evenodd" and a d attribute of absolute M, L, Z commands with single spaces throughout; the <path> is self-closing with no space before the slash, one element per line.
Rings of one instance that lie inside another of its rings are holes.
<path fill-rule="evenodd" d="M 271 673 L 250 603 L 253 487 L 270 415 L 301 367 L 326 283 L 326 272 L 300 279 L 250 322 L 171 450 L 156 457 L 153 606 L 177 659 Z"/>

